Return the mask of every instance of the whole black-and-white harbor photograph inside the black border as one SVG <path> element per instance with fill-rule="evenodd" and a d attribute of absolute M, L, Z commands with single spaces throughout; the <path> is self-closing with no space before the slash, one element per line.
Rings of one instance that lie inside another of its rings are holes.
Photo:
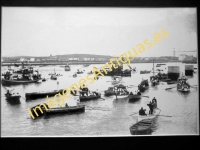
<path fill-rule="evenodd" d="M 199 135 L 197 8 L 2 7 L 1 136 Z"/>

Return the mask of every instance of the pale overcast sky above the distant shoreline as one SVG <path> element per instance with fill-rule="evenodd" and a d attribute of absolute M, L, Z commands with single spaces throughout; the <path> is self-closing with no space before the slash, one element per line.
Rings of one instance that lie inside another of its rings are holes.
<path fill-rule="evenodd" d="M 118 56 L 153 40 L 162 28 L 169 37 L 140 57 L 197 50 L 196 8 L 3 7 L 1 51 L 2 56 Z"/>

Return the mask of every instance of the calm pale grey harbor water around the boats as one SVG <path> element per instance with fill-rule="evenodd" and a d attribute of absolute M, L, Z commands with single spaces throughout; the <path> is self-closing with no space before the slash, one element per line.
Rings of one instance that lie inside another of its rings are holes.
<path fill-rule="evenodd" d="M 103 99 L 90 100 L 81 102 L 81 104 L 90 107 L 99 107 L 98 109 L 87 109 L 79 114 L 62 114 L 53 116 L 42 116 L 32 119 L 27 111 L 40 103 L 46 102 L 46 98 L 26 101 L 25 93 L 36 91 L 52 91 L 57 89 L 68 88 L 71 84 L 79 82 L 80 78 L 85 78 L 87 73 L 93 67 L 101 67 L 102 65 L 90 65 L 83 67 L 82 65 L 72 65 L 71 71 L 64 71 L 62 66 L 36 66 L 34 69 L 42 74 L 42 77 L 50 78 L 49 73 L 55 72 L 62 74 L 58 80 L 47 80 L 40 83 L 22 84 L 6 86 L 14 88 L 13 92 L 18 92 L 22 97 L 19 102 L 11 102 L 6 100 L 4 94 L 6 89 L 1 85 L 1 135 L 2 136 L 131 136 L 130 126 L 137 122 L 137 116 L 131 115 L 138 112 L 141 107 L 149 111 L 147 104 L 155 97 L 157 99 L 158 108 L 161 110 L 152 128 L 151 135 L 195 135 L 198 134 L 198 111 L 199 97 L 198 90 L 191 88 L 189 93 L 181 93 L 176 88 L 165 90 L 175 85 L 167 85 L 161 82 L 159 85 L 146 90 L 142 97 L 136 102 L 130 102 L 127 99 L 116 99 L 115 96 L 105 97 L 104 90 L 112 86 L 112 78 L 109 76 L 99 77 L 93 84 L 89 85 L 90 91 L 98 89 Z M 136 63 L 131 64 L 136 67 L 137 72 L 132 73 L 131 77 L 122 77 L 122 84 L 126 86 L 134 85 L 128 88 L 128 91 L 135 92 L 137 85 L 142 79 L 150 79 L 150 74 L 140 74 L 140 70 L 152 70 L 152 63 Z M 182 63 L 166 63 L 156 69 L 163 69 L 167 73 L 168 66 L 179 66 L 181 73 L 185 73 L 185 64 Z M 194 68 L 197 67 L 194 64 Z M 82 68 L 83 74 L 73 78 L 72 75 L 77 69 Z M 4 72 L 7 67 L 2 67 Z M 129 69 L 124 65 L 124 69 Z M 57 81 L 59 84 L 57 84 Z M 88 81 L 89 82 L 89 81 Z M 192 85 L 198 84 L 198 72 L 193 76 L 188 76 L 188 82 Z M 88 84 L 88 83 L 86 83 Z M 53 97 L 52 97 L 53 98 Z M 74 97 L 66 99 L 68 105 L 75 105 Z"/>

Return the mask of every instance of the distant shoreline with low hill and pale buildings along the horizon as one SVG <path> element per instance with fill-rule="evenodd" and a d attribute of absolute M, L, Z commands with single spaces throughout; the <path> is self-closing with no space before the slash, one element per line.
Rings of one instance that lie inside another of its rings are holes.
<path fill-rule="evenodd" d="M 108 56 L 108 55 L 92 55 L 92 54 L 68 54 L 68 55 L 57 55 L 57 56 L 47 56 L 47 57 L 32 57 L 32 56 L 23 56 L 23 57 L 2 57 L 2 62 L 23 62 L 23 61 L 29 61 L 29 62 L 36 62 L 36 63 L 59 63 L 59 62 L 79 62 L 79 61 L 85 61 L 85 62 L 109 62 L 110 59 L 114 57 Z M 161 57 L 136 57 L 132 59 L 130 57 L 131 62 L 152 62 L 152 61 L 161 61 L 161 62 L 176 62 L 176 61 L 193 61 L 197 60 L 196 57 L 188 56 L 185 54 L 180 55 L 179 57 L 174 56 L 161 56 Z"/>

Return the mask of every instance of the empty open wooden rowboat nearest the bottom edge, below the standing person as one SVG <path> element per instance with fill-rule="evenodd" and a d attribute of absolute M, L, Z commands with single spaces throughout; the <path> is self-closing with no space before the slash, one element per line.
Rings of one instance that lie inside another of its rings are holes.
<path fill-rule="evenodd" d="M 130 133 L 132 135 L 138 134 L 147 134 L 151 131 L 151 127 L 153 126 L 152 119 L 144 119 L 130 127 Z"/>

